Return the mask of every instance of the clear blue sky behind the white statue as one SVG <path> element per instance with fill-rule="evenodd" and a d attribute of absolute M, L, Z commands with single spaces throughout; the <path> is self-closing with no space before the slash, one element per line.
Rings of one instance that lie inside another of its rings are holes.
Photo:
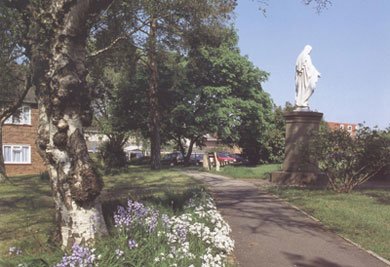
<path fill-rule="evenodd" d="M 240 0 L 241 54 L 270 73 L 263 84 L 277 105 L 294 103 L 295 62 L 304 46 L 321 73 L 309 100 L 326 121 L 390 126 L 390 0 L 332 0 L 320 14 L 302 0 Z"/>

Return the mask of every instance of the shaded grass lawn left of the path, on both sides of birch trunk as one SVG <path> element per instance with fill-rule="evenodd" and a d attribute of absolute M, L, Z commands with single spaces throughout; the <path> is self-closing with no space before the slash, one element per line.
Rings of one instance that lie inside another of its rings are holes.
<path fill-rule="evenodd" d="M 48 242 L 54 231 L 49 181 L 39 176 L 11 177 L 11 180 L 13 184 L 0 184 L 0 259 L 7 257 L 11 246 L 21 248 L 26 257 L 61 255 Z M 129 197 L 176 208 L 190 189 L 199 187 L 192 178 L 174 170 L 152 172 L 138 166 L 129 167 L 126 173 L 105 176 L 104 182 L 106 217 L 112 217 L 119 200 Z"/>

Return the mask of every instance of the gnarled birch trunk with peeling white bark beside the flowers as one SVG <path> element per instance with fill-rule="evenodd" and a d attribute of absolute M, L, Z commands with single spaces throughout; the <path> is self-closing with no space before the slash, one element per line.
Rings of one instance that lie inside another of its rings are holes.
<path fill-rule="evenodd" d="M 92 120 L 85 80 L 87 20 L 111 1 L 51 1 L 43 21 L 30 31 L 37 146 L 48 166 L 63 247 L 107 233 L 99 199 L 103 181 L 88 155 L 83 127 Z"/>

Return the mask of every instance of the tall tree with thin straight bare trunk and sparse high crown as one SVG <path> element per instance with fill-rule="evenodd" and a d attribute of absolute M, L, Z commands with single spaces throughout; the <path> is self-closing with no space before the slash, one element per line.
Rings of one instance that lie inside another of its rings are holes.
<path fill-rule="evenodd" d="M 134 1 L 133 1 L 134 2 Z M 145 53 L 148 67 L 149 136 L 151 168 L 160 169 L 161 114 L 159 112 L 158 51 L 186 50 L 185 41 L 190 29 L 204 23 L 221 22 L 235 7 L 235 1 L 139 1 L 137 2 L 136 40 Z"/>

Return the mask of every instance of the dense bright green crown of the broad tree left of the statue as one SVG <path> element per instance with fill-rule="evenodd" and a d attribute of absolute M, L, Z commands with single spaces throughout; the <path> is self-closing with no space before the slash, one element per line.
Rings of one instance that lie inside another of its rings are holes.
<path fill-rule="evenodd" d="M 271 111 L 272 102 L 261 88 L 267 73 L 240 55 L 233 29 L 219 32 L 218 39 L 217 45 L 191 50 L 188 85 L 176 92 L 168 128 L 174 140 L 186 138 L 202 146 L 204 135 L 216 133 L 223 143 L 249 151 L 259 141 L 256 135 L 263 133 Z"/>

